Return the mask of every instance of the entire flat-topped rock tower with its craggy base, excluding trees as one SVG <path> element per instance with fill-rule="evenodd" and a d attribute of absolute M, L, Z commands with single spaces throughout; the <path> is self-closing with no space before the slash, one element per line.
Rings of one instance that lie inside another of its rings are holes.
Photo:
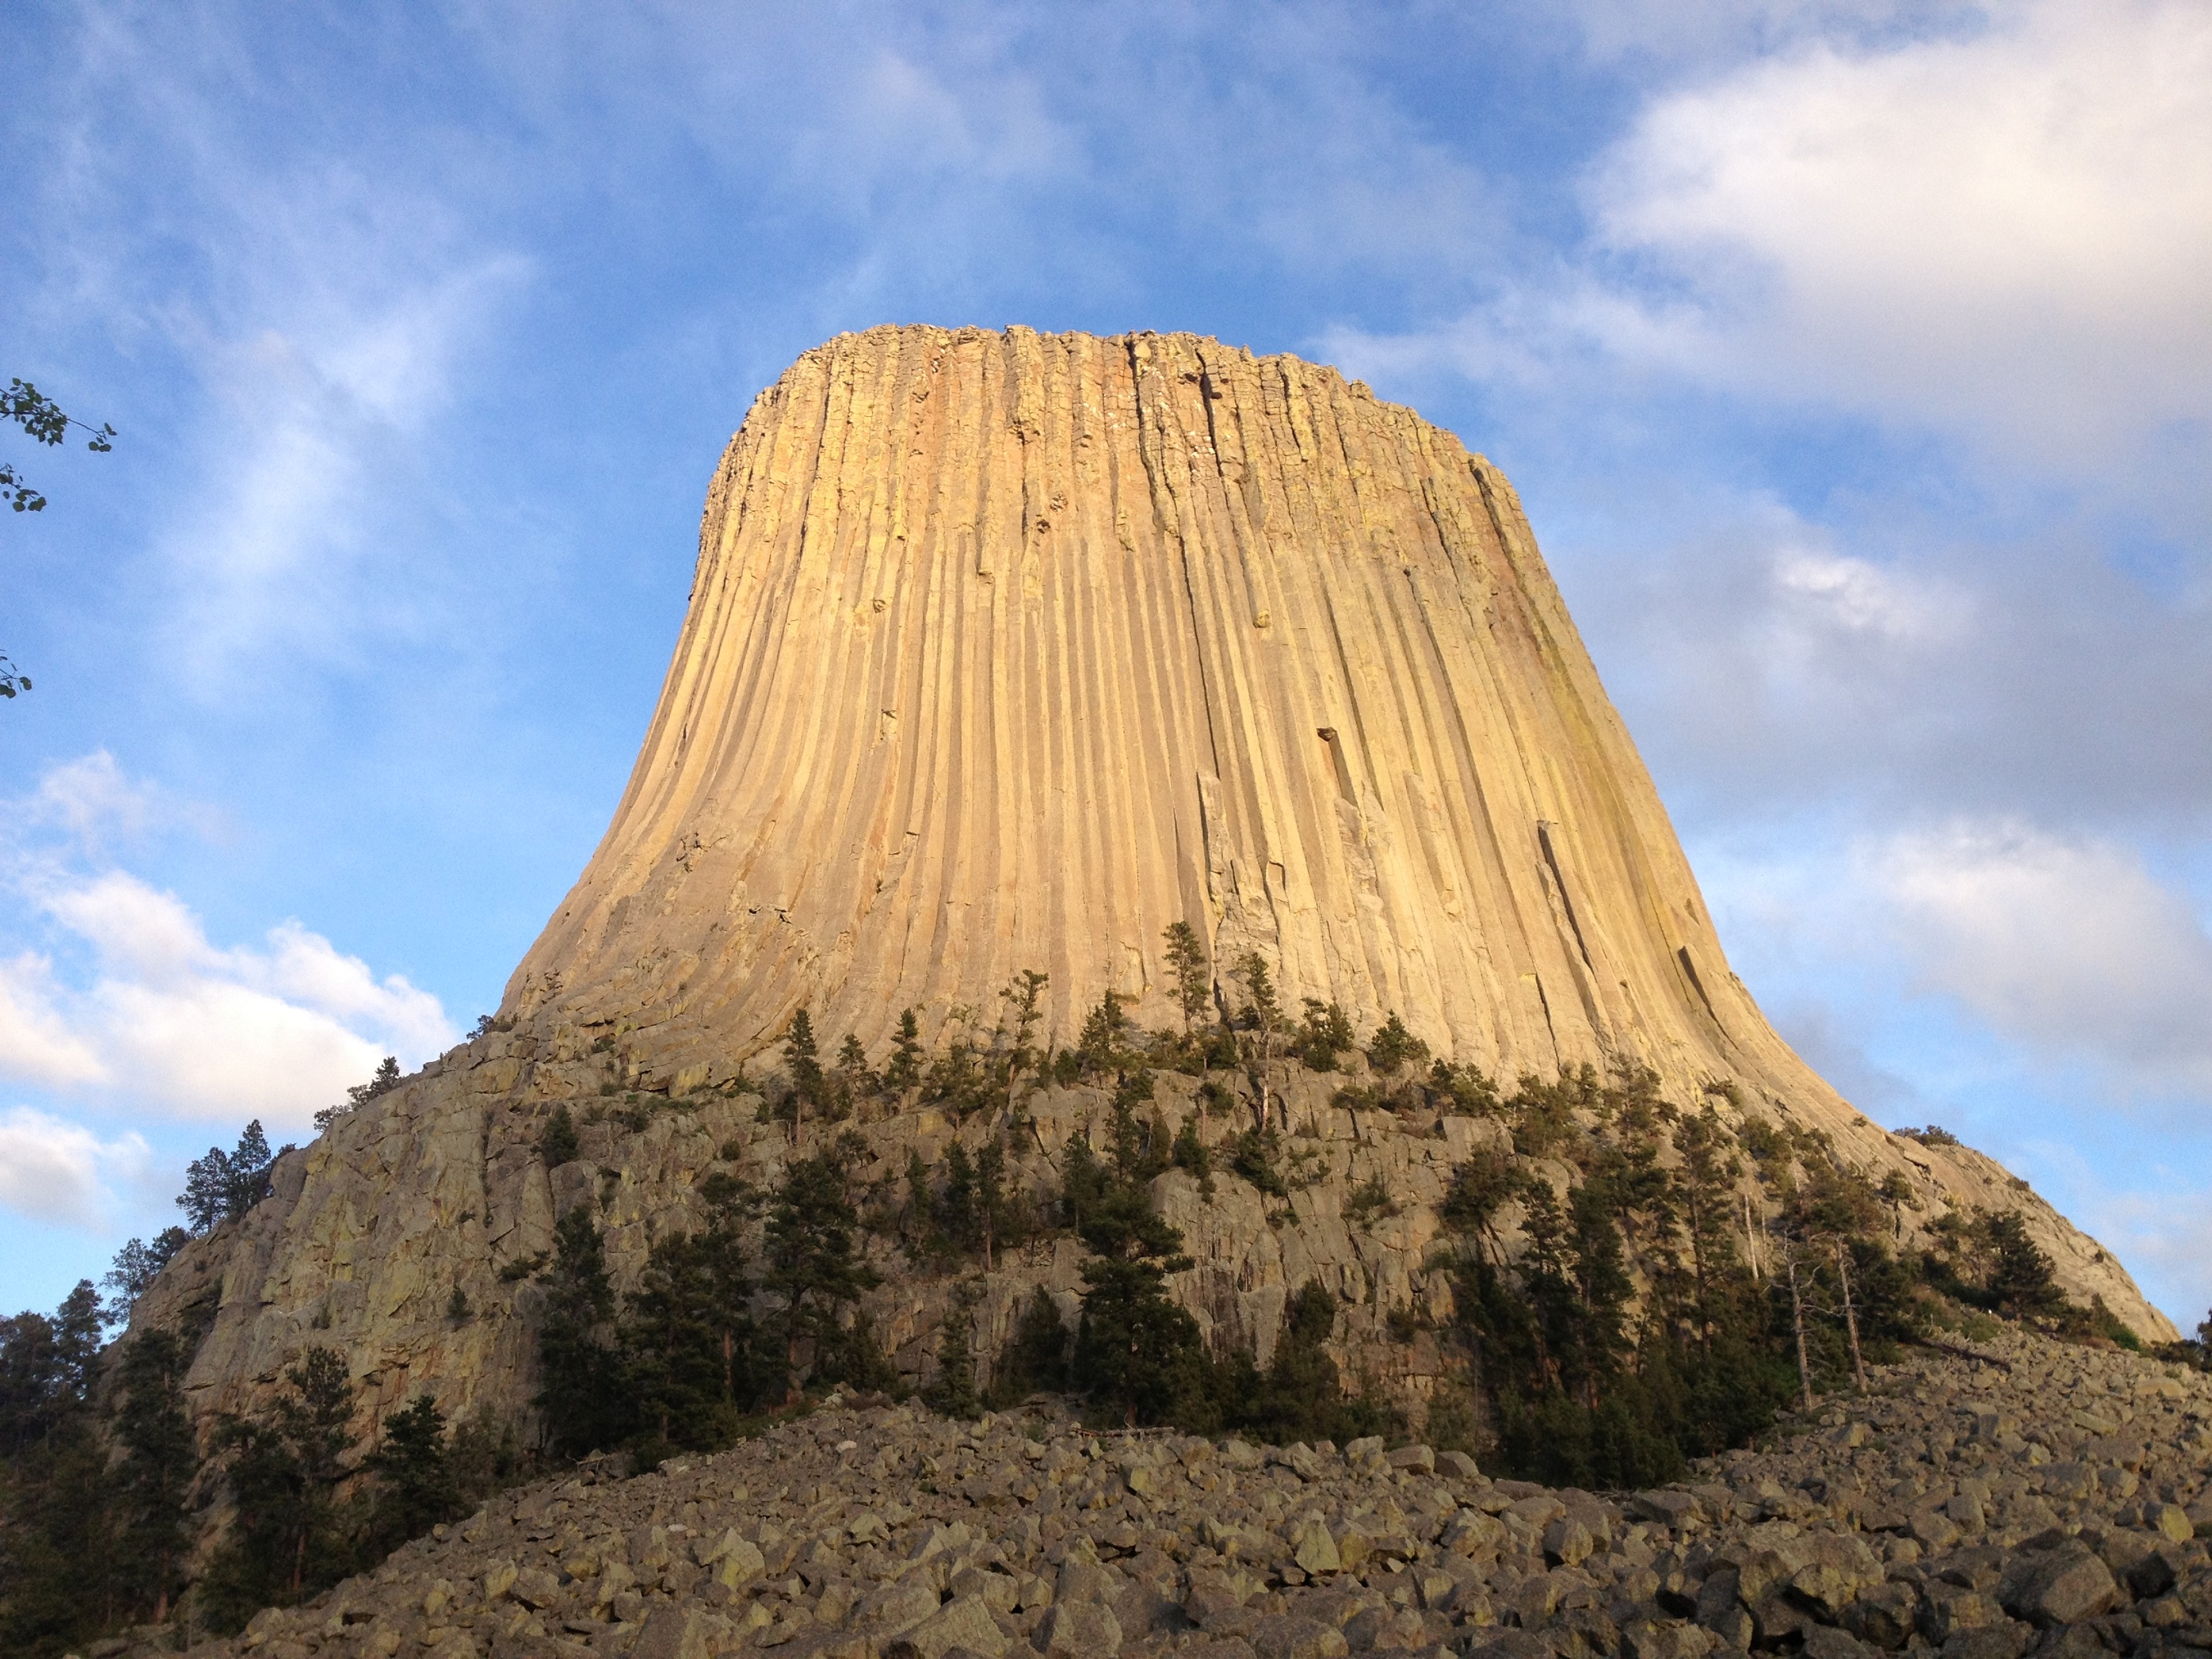
<path fill-rule="evenodd" d="M 1905 1175 L 1902 1228 L 1947 1201 L 2020 1210 L 2073 1296 L 2174 1334 L 2000 1166 L 1887 1135 L 1774 1035 L 1495 467 L 1287 356 L 929 327 L 810 352 L 730 442 L 637 770 L 509 987 L 509 1029 L 283 1157 L 137 1318 L 206 1325 L 204 1416 L 310 1343 L 349 1356 L 365 1413 L 418 1391 L 522 1411 L 520 1274 L 555 1217 L 597 1206 L 628 1287 L 708 1172 L 772 1181 L 792 1146 L 743 1066 L 794 1009 L 880 1062 L 900 1009 L 989 1029 L 1040 969 L 1060 1037 L 1108 991 L 1170 1024 L 1170 922 L 1217 967 L 1261 953 L 1292 1009 L 1334 1000 L 1363 1031 L 1396 1009 L 1506 1079 L 1648 1064 L 1679 1104 L 1734 1082 L 1752 1115 Z M 1420 1329 L 1449 1312 L 1433 1201 L 1502 1130 L 1336 1110 L 1340 1079 L 1279 1071 L 1303 1186 L 1270 1203 L 1221 1177 L 1206 1201 L 1161 1177 L 1199 1263 L 1177 1290 L 1265 1358 L 1318 1276 L 1349 1303 L 1347 1369 L 1418 1405 L 1440 1367 Z M 1172 1128 L 1194 1082 L 1161 1088 Z M 549 1170 L 557 1104 L 613 1115 Z M 998 1121 L 856 1128 L 878 1181 L 1018 1128 L 1042 1190 L 1104 1117 L 1095 1093 L 1044 1091 Z M 1356 1212 L 1376 1179 L 1391 1212 Z M 918 1371 L 947 1287 L 885 1267 L 869 1314 Z M 1073 1301 L 1071 1243 L 1000 1263 L 984 1352 L 1040 1283 Z"/>

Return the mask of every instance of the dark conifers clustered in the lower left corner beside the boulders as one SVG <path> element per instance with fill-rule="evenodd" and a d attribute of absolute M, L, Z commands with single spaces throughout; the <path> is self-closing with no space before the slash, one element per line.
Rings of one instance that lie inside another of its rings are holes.
<path fill-rule="evenodd" d="M 201 1444 L 184 1398 L 199 1332 L 104 1347 L 106 1318 L 91 1281 L 53 1314 L 0 1318 L 0 1652 L 60 1655 L 159 1624 L 186 1590 L 188 1635 L 228 1635 L 467 1515 L 518 1469 L 511 1429 L 478 1416 L 449 1431 L 429 1396 L 361 1449 L 354 1385 L 327 1347 Z M 234 1520 L 192 1582 L 219 1493 Z"/>

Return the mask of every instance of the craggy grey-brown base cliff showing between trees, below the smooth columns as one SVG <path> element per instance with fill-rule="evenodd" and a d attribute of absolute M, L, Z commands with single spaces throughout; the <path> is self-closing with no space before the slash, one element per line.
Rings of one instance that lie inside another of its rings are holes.
<path fill-rule="evenodd" d="M 1157 1133 L 1172 1137 L 1190 1121 L 1221 1152 L 1208 1181 L 1170 1168 L 1150 1183 L 1152 1206 L 1181 1230 L 1192 1259 L 1168 1285 L 1217 1352 L 1250 1345 L 1265 1365 L 1285 1301 L 1318 1279 L 1345 1305 L 1332 1347 L 1343 1374 L 1374 1378 L 1420 1422 L 1455 1367 L 1440 1338 L 1455 1312 L 1462 1241 L 1438 1212 L 1455 1172 L 1498 1157 L 1568 1192 L 1584 1179 L 1573 1161 L 1579 1152 L 1566 1146 L 1517 1157 L 1502 1110 L 1464 1110 L 1427 1091 L 1400 1088 L 1383 1106 L 1338 1104 L 1347 1086 L 1358 1093 L 1367 1082 L 1358 1053 L 1338 1064 L 1334 1073 L 1292 1062 L 1270 1068 L 1270 1121 L 1287 1119 L 1281 1194 L 1230 1168 L 1228 1141 L 1254 1121 L 1245 1073 L 1152 1073 Z M 551 1252 L 562 1214 L 580 1206 L 593 1214 L 615 1287 L 630 1294 L 657 1239 L 701 1225 L 701 1188 L 712 1175 L 765 1190 L 792 1161 L 792 1126 L 752 1093 L 768 1079 L 737 1093 L 714 1079 L 684 1079 L 697 1093 L 630 1086 L 644 1082 L 650 1077 L 639 1077 L 619 1046 L 549 1053 L 520 1033 L 469 1044 L 283 1155 L 270 1194 L 188 1245 L 142 1298 L 133 1327 L 206 1332 L 188 1376 L 199 1422 L 263 1400 L 310 1345 L 345 1354 L 363 1431 L 425 1394 L 453 1418 L 478 1405 L 526 1418 L 542 1312 L 531 1272 Z M 779 1091 L 774 1079 L 770 1093 Z M 1102 1086 L 1020 1088 L 1011 1104 L 975 1106 L 964 1121 L 951 1104 L 922 1104 L 920 1093 L 876 1097 L 841 1124 L 801 1130 L 810 1150 L 830 1135 L 854 1135 L 865 1148 L 852 1183 L 874 1223 L 865 1248 L 885 1283 L 863 1298 L 863 1314 L 911 1383 L 931 1371 L 956 1283 L 982 1267 L 969 1261 L 956 1272 L 914 1259 L 905 1219 L 911 1159 L 942 1181 L 956 1146 L 973 1155 L 998 1139 L 1009 1150 L 1009 1188 L 1048 1221 L 1071 1137 L 1104 1146 L 1110 1119 Z M 1208 1093 L 1210 1113 L 1201 1110 Z M 1759 1115 L 1712 1104 L 1732 1133 L 1790 1121 L 1774 1108 Z M 577 1126 L 577 1148 L 546 1166 L 542 1148 L 557 1110 Z M 1575 1126 L 1573 1141 L 1599 1146 L 1608 1133 L 1590 1119 Z M 1922 1239 L 1953 1206 L 2017 1212 L 2075 1298 L 2101 1296 L 2143 1338 L 2174 1334 L 2112 1256 L 1991 1159 L 1871 1126 L 1838 1141 L 1836 1155 L 1871 1183 L 1902 1181 L 1891 1188 L 1900 1197 L 1885 1223 L 1900 1243 Z M 1763 1214 L 1750 1206 L 1770 1203 L 1772 1192 L 1750 1161 L 1739 1186 L 1743 1214 Z M 1526 1250 L 1522 1219 L 1511 1201 L 1493 1217 L 1486 1248 L 1506 1263 Z M 1040 1225 L 993 1256 L 973 1318 L 984 1365 L 1040 1285 L 1075 1325 L 1082 1259 L 1082 1245 L 1057 1225 Z"/>

